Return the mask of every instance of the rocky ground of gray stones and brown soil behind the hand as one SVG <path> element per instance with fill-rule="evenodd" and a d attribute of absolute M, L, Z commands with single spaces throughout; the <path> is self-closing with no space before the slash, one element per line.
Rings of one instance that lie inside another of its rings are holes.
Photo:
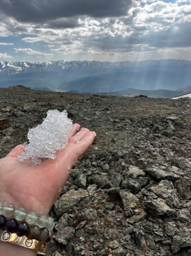
<path fill-rule="evenodd" d="M 191 100 L 0 88 L 0 156 L 48 109 L 95 130 L 50 215 L 48 256 L 191 255 Z"/>

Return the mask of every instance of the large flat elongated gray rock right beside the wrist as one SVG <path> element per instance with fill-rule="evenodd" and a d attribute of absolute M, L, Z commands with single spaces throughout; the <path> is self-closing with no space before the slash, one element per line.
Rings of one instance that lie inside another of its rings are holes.
<path fill-rule="evenodd" d="M 84 189 L 78 189 L 76 191 L 75 189 L 69 190 L 55 202 L 57 215 L 61 216 L 63 213 L 71 210 L 73 206 L 77 205 L 80 200 L 82 200 L 82 198 L 88 196 L 89 193 Z"/>

